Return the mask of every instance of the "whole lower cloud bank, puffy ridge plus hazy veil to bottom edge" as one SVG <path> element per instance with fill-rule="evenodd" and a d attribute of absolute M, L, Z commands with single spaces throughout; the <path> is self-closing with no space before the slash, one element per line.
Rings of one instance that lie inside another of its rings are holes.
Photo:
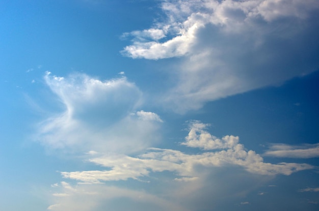
<path fill-rule="evenodd" d="M 219 139 L 207 132 L 207 126 L 190 122 L 189 133 L 181 143 L 202 149 L 196 154 L 161 148 L 149 148 L 134 157 L 89 153 L 86 161 L 104 170 L 61 172 L 64 179 L 77 183 L 52 185 L 54 202 L 48 209 L 201 210 L 198 204 L 203 201 L 211 208 L 233 198 L 244 200 L 250 189 L 274 175 L 314 168 L 302 163 L 265 163 L 253 150 L 245 149 L 238 137 Z"/>

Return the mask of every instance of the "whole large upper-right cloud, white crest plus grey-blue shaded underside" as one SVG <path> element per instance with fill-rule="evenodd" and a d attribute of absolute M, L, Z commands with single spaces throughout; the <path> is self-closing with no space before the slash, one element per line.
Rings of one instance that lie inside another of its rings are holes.
<path fill-rule="evenodd" d="M 177 112 L 319 68 L 315 0 L 167 0 L 162 10 L 166 21 L 129 33 L 135 37 L 122 53 L 180 57 L 178 83 L 161 99 Z"/>

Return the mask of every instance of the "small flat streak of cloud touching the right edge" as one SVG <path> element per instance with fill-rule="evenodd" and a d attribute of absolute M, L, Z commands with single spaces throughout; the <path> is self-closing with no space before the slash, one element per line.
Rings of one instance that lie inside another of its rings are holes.
<path fill-rule="evenodd" d="M 316 158 L 319 157 L 319 143 L 304 145 L 272 144 L 265 156 L 281 158 Z"/>

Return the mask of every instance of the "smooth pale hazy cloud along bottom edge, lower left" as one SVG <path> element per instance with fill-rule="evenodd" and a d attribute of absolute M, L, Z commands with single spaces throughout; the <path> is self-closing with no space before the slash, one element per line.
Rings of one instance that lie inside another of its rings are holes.
<path fill-rule="evenodd" d="M 173 202 L 146 193 L 144 191 L 130 190 L 106 185 L 77 185 L 76 187 L 62 182 L 58 188 L 62 193 L 54 194 L 56 203 L 50 205 L 48 210 L 62 211 L 89 211 L 105 210 L 176 210 L 187 211 Z M 62 197 L 63 196 L 63 197 Z M 116 202 L 121 198 L 121 203 Z"/>

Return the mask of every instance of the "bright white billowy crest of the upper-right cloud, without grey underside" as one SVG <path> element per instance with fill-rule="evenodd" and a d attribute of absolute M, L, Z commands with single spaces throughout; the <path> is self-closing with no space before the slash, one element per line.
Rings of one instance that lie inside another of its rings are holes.
<path fill-rule="evenodd" d="M 127 55 L 137 58 L 159 59 L 181 56 L 192 51 L 191 45 L 199 37 L 201 28 L 207 24 L 220 27 L 227 33 L 248 33 L 250 27 L 258 26 L 258 19 L 272 22 L 281 17 L 309 18 L 311 12 L 319 8 L 317 1 L 164 1 L 163 11 L 166 12 L 167 22 L 157 23 L 157 28 L 134 31 L 124 35 L 135 36 L 139 41 L 124 48 Z M 260 23 L 259 23 L 260 24 Z M 264 27 L 260 25 L 260 27 Z M 259 29 L 259 28 L 258 28 Z M 176 36 L 163 43 L 154 42 L 165 37 L 170 31 Z M 264 32 L 261 32 L 264 33 Z M 148 37 L 154 41 L 142 39 Z M 145 41 L 145 42 L 141 42 Z M 207 40 L 206 40 L 207 41 Z M 157 53 L 156 53 L 157 51 Z"/>

